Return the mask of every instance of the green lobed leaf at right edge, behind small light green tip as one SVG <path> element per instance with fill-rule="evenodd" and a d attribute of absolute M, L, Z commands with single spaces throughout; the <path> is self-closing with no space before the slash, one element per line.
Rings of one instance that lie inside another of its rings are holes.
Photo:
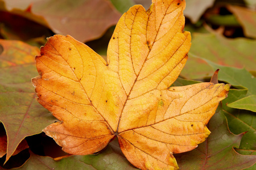
<path fill-rule="evenodd" d="M 241 100 L 243 97 L 255 95 L 256 79 L 245 69 L 220 66 L 208 60 L 205 61 L 207 61 L 214 69 L 220 69 L 218 74 L 218 78 L 220 80 L 228 82 L 232 84 L 232 86 L 243 86 L 247 88 L 247 94 L 245 94 L 246 89 L 230 90 L 228 97 L 222 100 L 222 108 L 225 116 L 228 119 L 228 125 L 232 133 L 240 134 L 247 131 L 242 138 L 240 148 L 246 150 L 256 150 L 256 114 L 244 109 L 234 109 L 226 106 L 226 104 Z"/>

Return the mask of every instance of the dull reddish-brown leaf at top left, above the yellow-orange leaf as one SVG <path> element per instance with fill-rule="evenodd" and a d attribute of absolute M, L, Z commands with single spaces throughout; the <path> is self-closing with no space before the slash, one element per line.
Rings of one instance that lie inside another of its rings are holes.
<path fill-rule="evenodd" d="M 6 1 L 8 9 L 30 5 L 32 14 L 42 16 L 53 32 L 72 35 L 82 42 L 102 36 L 121 16 L 109 0 Z"/>

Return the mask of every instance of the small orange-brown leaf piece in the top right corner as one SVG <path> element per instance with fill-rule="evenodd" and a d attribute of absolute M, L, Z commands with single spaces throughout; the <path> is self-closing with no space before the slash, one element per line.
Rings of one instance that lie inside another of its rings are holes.
<path fill-rule="evenodd" d="M 245 35 L 256 39 L 256 11 L 231 5 L 228 6 L 228 10 L 231 11 L 236 16 L 238 22 L 241 23 Z"/>

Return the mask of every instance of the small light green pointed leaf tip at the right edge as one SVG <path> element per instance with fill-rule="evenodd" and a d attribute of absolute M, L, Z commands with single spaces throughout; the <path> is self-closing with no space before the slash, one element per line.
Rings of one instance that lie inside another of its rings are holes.
<path fill-rule="evenodd" d="M 240 100 L 229 103 L 228 107 L 237 109 L 246 109 L 256 112 L 256 95 L 250 95 Z"/>

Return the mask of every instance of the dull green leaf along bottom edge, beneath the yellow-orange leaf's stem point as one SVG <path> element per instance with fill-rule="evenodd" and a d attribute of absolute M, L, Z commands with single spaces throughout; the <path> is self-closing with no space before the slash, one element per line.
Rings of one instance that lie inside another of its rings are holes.
<path fill-rule="evenodd" d="M 31 151 L 30 155 L 30 159 L 19 169 L 137 169 L 128 162 L 121 149 L 113 143 L 110 143 L 101 154 L 73 155 L 59 161 L 48 156 L 35 155 Z"/>

